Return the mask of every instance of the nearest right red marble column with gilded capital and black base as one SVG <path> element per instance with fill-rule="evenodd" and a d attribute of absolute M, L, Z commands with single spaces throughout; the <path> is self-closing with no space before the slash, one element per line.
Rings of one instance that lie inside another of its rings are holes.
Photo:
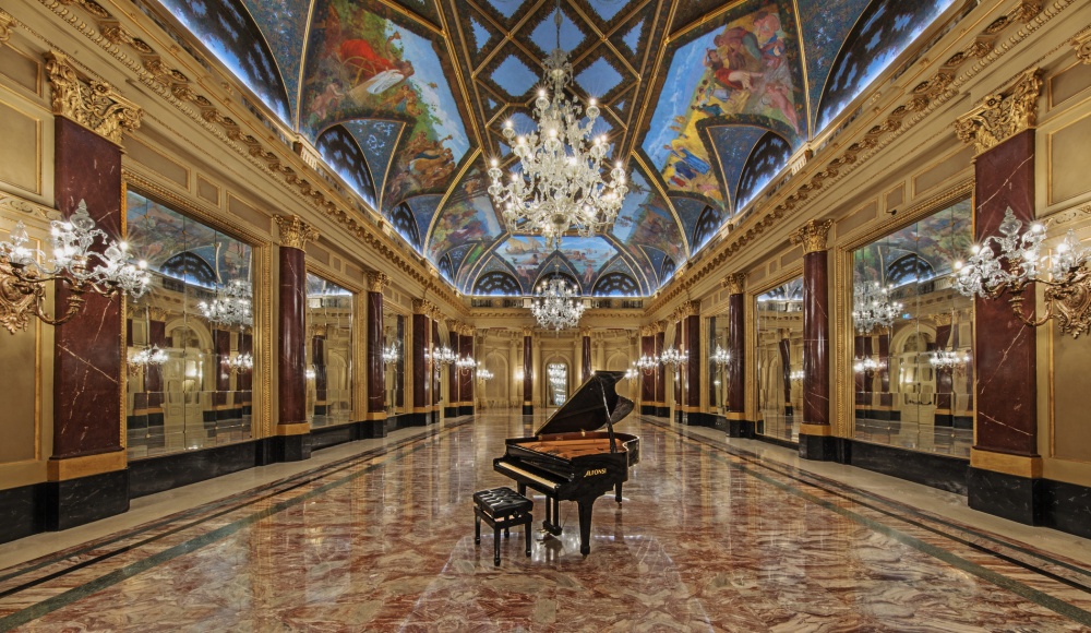
<path fill-rule="evenodd" d="M 1034 124 L 1042 71 L 1022 73 L 956 122 L 974 143 L 974 240 L 999 235 L 1006 210 L 1034 218 Z M 1034 312 L 1033 289 L 1023 310 Z M 976 369 L 974 445 L 967 476 L 970 507 L 1027 524 L 1042 521 L 1045 503 L 1038 454 L 1036 332 L 1004 300 L 974 301 Z M 1051 324 L 1052 326 L 1052 324 Z"/>

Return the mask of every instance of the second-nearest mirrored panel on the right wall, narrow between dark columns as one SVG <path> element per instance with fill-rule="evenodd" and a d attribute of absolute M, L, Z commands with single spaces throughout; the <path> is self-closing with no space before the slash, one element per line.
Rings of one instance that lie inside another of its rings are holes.
<path fill-rule="evenodd" d="M 803 277 L 757 297 L 757 432 L 798 442 L 803 420 Z"/>

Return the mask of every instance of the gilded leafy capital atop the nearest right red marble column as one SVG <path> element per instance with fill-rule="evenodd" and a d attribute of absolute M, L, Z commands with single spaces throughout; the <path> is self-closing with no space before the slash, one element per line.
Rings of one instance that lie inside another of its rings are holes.
<path fill-rule="evenodd" d="M 981 154 L 1038 123 L 1038 96 L 1042 92 L 1042 69 L 1019 75 L 1005 93 L 986 95 L 981 104 L 955 121 L 955 132 L 963 143 L 976 145 Z"/>

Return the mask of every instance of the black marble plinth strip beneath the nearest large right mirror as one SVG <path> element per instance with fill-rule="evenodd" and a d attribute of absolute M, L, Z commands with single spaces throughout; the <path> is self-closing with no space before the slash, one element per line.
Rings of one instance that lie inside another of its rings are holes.
<path fill-rule="evenodd" d="M 841 438 L 837 439 L 836 447 L 834 461 L 839 464 L 856 466 L 957 494 L 967 493 L 969 459 Z"/>

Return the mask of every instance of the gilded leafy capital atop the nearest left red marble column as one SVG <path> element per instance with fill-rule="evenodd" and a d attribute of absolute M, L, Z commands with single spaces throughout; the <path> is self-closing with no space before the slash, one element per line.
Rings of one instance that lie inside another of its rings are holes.
<path fill-rule="evenodd" d="M 2 31 L 8 33 L 8 28 Z M 50 50 L 45 58 L 46 75 L 53 87 L 53 115 L 64 117 L 116 145 L 121 144 L 124 130 L 131 132 L 140 128 L 142 110 L 122 97 L 113 86 L 99 81 L 85 83 L 63 52 Z"/>

